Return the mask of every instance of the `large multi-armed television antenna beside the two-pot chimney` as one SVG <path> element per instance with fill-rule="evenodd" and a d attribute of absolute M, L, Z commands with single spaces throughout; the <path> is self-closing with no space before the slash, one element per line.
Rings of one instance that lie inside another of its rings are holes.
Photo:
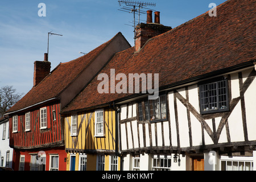
<path fill-rule="evenodd" d="M 118 0 L 119 6 L 124 4 L 125 6 L 121 7 L 121 9 L 118 9 L 119 11 L 125 11 L 127 13 L 133 13 L 133 27 L 134 27 L 134 45 L 135 45 L 135 37 L 136 37 L 136 31 L 135 31 L 135 15 L 138 15 L 138 24 L 140 22 L 140 16 L 141 14 L 146 14 L 147 12 L 142 9 L 152 10 L 146 8 L 147 6 L 155 6 L 156 3 L 149 3 L 149 2 L 139 2 L 139 1 L 131 1 L 131 0 Z M 155 10 L 152 10 L 155 11 Z M 126 24 L 129 25 L 129 24 Z M 130 25 L 129 25 L 130 26 Z"/>

